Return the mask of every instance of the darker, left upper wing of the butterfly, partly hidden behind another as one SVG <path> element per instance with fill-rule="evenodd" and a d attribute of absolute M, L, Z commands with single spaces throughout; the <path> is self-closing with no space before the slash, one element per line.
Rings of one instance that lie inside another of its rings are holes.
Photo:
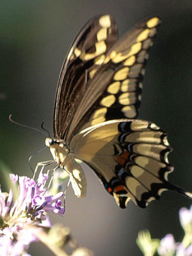
<path fill-rule="evenodd" d="M 55 139 L 65 139 L 93 68 L 97 70 L 117 40 L 116 24 L 110 15 L 94 17 L 77 35 L 58 81 L 53 124 Z"/>

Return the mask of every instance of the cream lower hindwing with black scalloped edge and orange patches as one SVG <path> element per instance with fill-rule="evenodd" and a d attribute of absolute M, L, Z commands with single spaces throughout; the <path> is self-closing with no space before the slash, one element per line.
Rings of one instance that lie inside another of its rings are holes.
<path fill-rule="evenodd" d="M 71 154 L 87 163 L 116 203 L 131 199 L 146 207 L 164 189 L 173 189 L 167 175 L 173 167 L 166 134 L 147 121 L 112 120 L 89 127 L 70 143 Z"/>

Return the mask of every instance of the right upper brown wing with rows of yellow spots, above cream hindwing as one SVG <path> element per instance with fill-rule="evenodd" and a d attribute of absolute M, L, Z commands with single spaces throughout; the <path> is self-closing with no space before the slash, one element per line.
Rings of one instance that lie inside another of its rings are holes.
<path fill-rule="evenodd" d="M 125 34 L 108 52 L 88 81 L 67 134 L 118 118 L 136 118 L 148 51 L 160 20 L 144 20 Z M 94 69 L 92 70 L 92 72 Z"/>

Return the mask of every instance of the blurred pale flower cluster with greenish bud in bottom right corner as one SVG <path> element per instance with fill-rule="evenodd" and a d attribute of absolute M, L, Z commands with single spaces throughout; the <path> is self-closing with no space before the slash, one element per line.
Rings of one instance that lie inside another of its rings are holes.
<path fill-rule="evenodd" d="M 184 238 L 181 243 L 176 243 L 172 234 L 167 234 L 161 241 L 151 239 L 148 230 L 139 233 L 137 243 L 144 256 L 192 256 L 192 205 L 188 210 L 179 211 L 180 224 L 184 229 Z"/>

